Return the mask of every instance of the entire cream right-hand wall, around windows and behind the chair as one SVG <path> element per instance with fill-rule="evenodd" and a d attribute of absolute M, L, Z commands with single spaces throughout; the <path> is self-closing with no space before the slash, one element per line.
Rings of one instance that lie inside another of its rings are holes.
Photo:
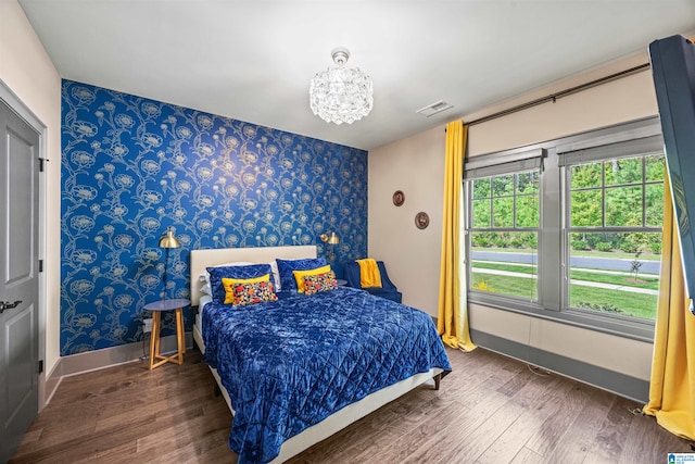
<path fill-rule="evenodd" d="M 647 61 L 645 53 L 612 63 L 471 114 L 464 121 Z M 652 75 L 645 71 L 555 103 L 473 125 L 468 135 L 468 155 L 522 147 L 655 114 Z M 444 126 L 369 152 L 369 254 L 389 264 L 389 274 L 394 274 L 406 304 L 432 315 L 437 315 L 438 308 L 443 158 Z M 405 191 L 407 210 L 400 211 L 391 204 L 390 196 L 395 189 Z M 426 234 L 413 225 L 413 216 L 419 209 L 428 211 L 432 220 Z M 390 234 L 396 237 L 391 238 Z M 652 343 L 478 304 L 471 304 L 469 310 L 470 325 L 476 330 L 628 376 L 649 378 Z"/>

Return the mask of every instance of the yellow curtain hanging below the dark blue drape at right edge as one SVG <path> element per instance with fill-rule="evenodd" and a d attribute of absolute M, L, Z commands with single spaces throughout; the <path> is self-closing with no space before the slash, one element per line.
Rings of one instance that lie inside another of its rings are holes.
<path fill-rule="evenodd" d="M 646 414 L 672 434 L 695 439 L 695 316 L 690 313 L 678 223 L 665 183 L 661 280 Z"/>

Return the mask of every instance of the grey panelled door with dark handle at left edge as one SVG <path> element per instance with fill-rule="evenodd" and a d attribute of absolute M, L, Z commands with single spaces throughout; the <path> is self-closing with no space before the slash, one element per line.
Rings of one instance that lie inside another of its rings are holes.
<path fill-rule="evenodd" d="M 38 413 L 39 136 L 0 100 L 0 462 Z"/>

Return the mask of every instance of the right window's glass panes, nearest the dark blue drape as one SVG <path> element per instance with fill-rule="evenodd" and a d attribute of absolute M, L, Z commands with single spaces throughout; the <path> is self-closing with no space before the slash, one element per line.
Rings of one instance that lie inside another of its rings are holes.
<path fill-rule="evenodd" d="M 565 172 L 568 305 L 654 321 L 664 154 L 571 164 Z"/>

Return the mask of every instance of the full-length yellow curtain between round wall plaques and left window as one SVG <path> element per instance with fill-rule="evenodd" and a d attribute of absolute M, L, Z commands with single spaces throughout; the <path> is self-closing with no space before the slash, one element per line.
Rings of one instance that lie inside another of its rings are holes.
<path fill-rule="evenodd" d="M 468 330 L 466 272 L 460 241 L 464 156 L 468 126 L 463 121 L 446 125 L 444 168 L 444 218 L 442 223 L 442 263 L 439 284 L 437 329 L 453 348 L 475 350 Z"/>

